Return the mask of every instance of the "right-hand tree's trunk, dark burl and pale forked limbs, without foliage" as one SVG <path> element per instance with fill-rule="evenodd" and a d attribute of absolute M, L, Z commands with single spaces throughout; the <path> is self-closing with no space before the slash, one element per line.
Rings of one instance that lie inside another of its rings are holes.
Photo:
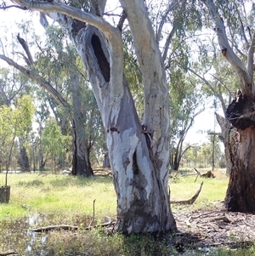
<path fill-rule="evenodd" d="M 231 162 L 229 187 L 225 206 L 230 211 L 255 213 L 255 118 L 253 82 L 255 32 L 250 34 L 249 48 L 246 52 L 247 63 L 241 61 L 229 45 L 224 20 L 217 5 L 212 0 L 202 0 L 215 23 L 215 31 L 222 54 L 229 61 L 239 77 L 241 90 L 226 111 L 228 121 L 236 128 L 235 139 L 229 146 Z M 229 137 L 229 139 L 232 139 Z"/>

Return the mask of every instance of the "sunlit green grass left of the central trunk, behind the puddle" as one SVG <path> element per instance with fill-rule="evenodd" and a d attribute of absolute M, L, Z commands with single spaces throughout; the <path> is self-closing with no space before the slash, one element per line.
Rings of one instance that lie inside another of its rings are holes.
<path fill-rule="evenodd" d="M 1 184 L 0 184 L 1 185 Z M 84 179 L 48 174 L 9 174 L 10 202 L 2 205 L 2 219 L 29 213 L 73 213 L 114 215 L 116 194 L 109 178 Z"/>

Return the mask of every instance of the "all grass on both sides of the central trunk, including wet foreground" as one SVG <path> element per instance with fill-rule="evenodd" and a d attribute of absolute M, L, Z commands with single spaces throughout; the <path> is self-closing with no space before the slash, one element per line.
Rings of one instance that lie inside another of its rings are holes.
<path fill-rule="evenodd" d="M 189 199 L 203 180 L 201 195 L 192 208 L 224 200 L 228 179 L 221 172 L 216 174 L 216 179 L 198 178 L 196 182 L 195 176 L 169 179 L 171 199 Z M 4 183 L 3 178 L 4 174 L 0 174 L 0 186 Z M 116 194 L 110 177 L 84 179 L 55 174 L 9 174 L 8 185 L 11 185 L 10 202 L 0 204 L 0 233 L 4 234 L 0 236 L 0 253 L 13 249 L 20 255 L 178 255 L 168 241 L 169 236 L 158 239 L 149 235 L 123 236 L 106 234 L 105 230 L 82 229 L 92 218 L 94 199 L 98 222 L 104 221 L 105 216 L 116 218 Z M 178 210 L 173 205 L 173 211 Z M 35 226 L 59 224 L 78 225 L 81 229 L 37 236 L 27 231 Z M 254 247 L 236 252 L 214 249 L 207 253 L 211 256 L 253 254 Z M 190 255 L 204 254 L 197 251 Z"/>

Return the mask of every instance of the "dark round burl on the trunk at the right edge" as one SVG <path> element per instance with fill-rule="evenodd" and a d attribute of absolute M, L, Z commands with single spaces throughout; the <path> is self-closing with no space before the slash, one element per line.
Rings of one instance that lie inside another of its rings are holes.
<path fill-rule="evenodd" d="M 228 106 L 226 117 L 235 128 L 244 130 L 255 127 L 255 101 L 238 91 L 235 100 Z"/>

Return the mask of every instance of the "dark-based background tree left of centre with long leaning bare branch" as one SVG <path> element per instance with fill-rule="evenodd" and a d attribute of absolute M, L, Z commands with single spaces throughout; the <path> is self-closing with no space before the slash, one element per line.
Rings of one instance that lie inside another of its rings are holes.
<path fill-rule="evenodd" d="M 26 65 L 18 64 L 5 54 L 1 54 L 0 59 L 39 83 L 51 95 L 51 97 L 47 96 L 48 103 L 64 134 L 68 133 L 69 121 L 72 120 L 72 174 L 92 175 L 93 170 L 89 162 L 91 145 L 84 129 L 84 113 L 87 112 L 88 108 L 81 104 L 79 94 L 81 91 L 80 83 L 83 82 L 84 84 L 86 77 L 83 78 L 82 72 L 77 68 L 77 54 L 73 54 L 73 49 L 65 43 L 66 38 L 63 32 L 54 26 L 48 26 L 45 44 L 38 41 L 38 38 L 35 39 L 36 42 L 32 42 L 37 44 L 39 48 L 39 52 L 35 54 L 35 60 L 29 44 L 20 37 L 20 34 L 18 34 L 17 39 L 25 52 L 25 54 L 20 54 Z M 84 90 L 84 86 L 82 89 Z M 64 109 L 64 111 L 58 111 L 59 108 Z M 94 113 L 99 117 L 98 111 L 94 111 Z M 40 158 L 43 168 L 42 155 Z"/>

